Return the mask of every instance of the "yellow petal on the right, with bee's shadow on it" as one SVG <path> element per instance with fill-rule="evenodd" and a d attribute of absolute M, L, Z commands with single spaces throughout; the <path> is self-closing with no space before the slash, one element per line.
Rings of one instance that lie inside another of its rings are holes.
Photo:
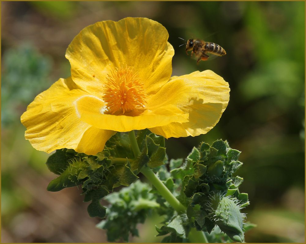
<path fill-rule="evenodd" d="M 148 106 L 172 104 L 188 113 L 189 121 L 150 130 L 166 138 L 205 134 L 217 124 L 229 99 L 229 84 L 211 70 L 172 77 L 159 92 L 148 98 Z"/>

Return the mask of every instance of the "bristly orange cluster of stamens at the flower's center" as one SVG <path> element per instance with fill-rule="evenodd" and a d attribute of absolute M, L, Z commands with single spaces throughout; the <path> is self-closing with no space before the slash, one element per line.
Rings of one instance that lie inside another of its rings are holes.
<path fill-rule="evenodd" d="M 103 100 L 109 113 L 118 115 L 145 107 L 147 93 L 134 68 L 111 69 L 106 81 Z"/>

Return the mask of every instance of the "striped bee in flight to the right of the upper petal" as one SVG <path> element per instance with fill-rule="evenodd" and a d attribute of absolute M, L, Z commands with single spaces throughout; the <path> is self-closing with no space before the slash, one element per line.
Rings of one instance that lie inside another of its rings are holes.
<path fill-rule="evenodd" d="M 179 39 L 184 40 L 181 37 L 179 37 Z M 186 44 L 186 54 L 188 55 L 188 51 L 191 51 L 191 56 L 195 54 L 196 57 L 199 57 L 196 61 L 197 63 L 199 63 L 200 60 L 205 61 L 209 58 L 206 53 L 215 54 L 217 56 L 223 56 L 226 54 L 224 48 L 216 43 L 204 42 L 200 39 L 188 39 L 187 42 L 186 40 L 184 41 L 185 43 L 180 45 L 180 47 Z"/>

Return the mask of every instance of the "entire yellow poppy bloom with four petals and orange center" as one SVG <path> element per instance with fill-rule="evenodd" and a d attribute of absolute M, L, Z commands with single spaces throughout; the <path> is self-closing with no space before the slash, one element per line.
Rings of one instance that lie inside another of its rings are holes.
<path fill-rule="evenodd" d="M 171 77 L 167 30 L 147 18 L 102 21 L 84 28 L 66 58 L 71 77 L 39 94 L 21 116 L 37 150 L 96 154 L 116 132 L 169 137 L 207 133 L 219 121 L 230 88 L 210 70 Z"/>

